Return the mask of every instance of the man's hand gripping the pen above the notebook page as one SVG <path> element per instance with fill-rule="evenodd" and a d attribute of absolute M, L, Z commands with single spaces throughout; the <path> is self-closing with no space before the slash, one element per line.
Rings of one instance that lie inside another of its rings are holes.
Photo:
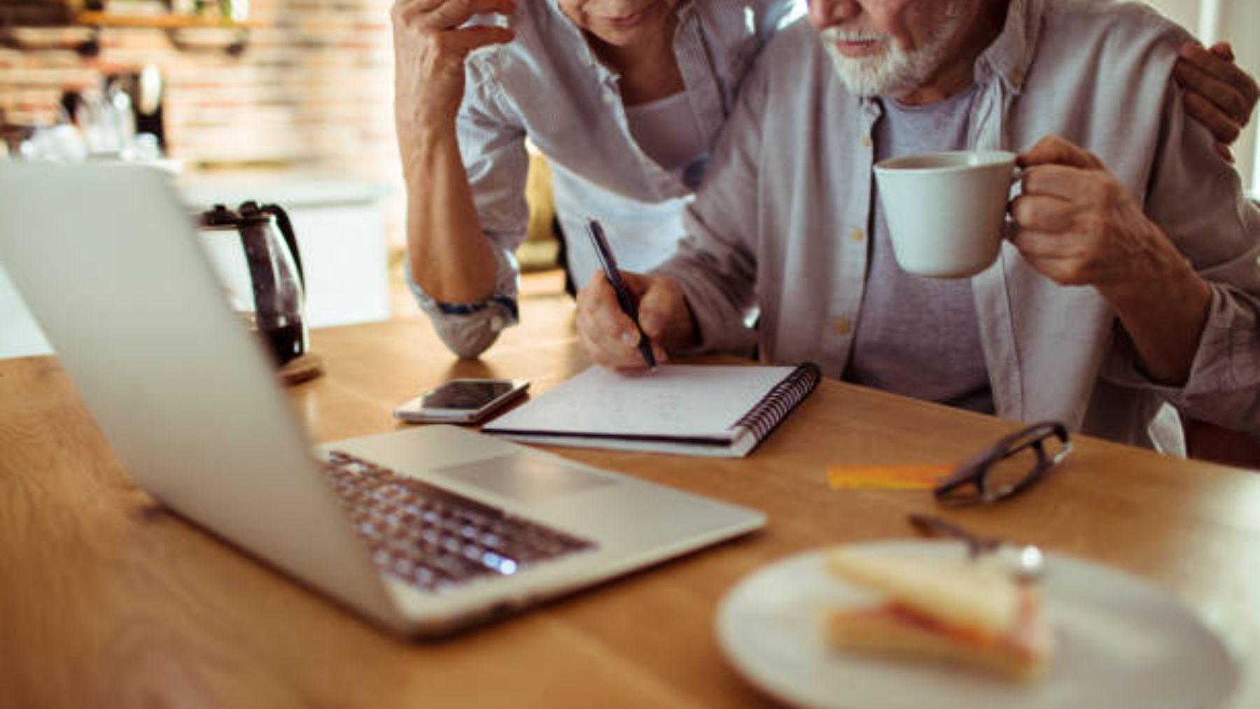
<path fill-rule="evenodd" d="M 658 364 L 668 359 L 668 350 L 694 343 L 696 321 L 674 280 L 626 271 L 621 278 L 639 298 L 638 325 L 651 340 Z M 622 312 L 604 272 L 596 271 L 577 293 L 577 334 L 586 354 L 609 369 L 644 369 L 648 364 L 639 353 L 639 327 Z"/>

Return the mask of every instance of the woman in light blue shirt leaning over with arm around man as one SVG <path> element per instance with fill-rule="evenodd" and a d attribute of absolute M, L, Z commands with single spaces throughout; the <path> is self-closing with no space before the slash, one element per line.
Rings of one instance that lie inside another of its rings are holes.
<path fill-rule="evenodd" d="M 397 0 L 408 281 L 447 346 L 476 356 L 517 322 L 527 139 L 551 162 L 576 285 L 598 264 L 588 218 L 621 267 L 650 269 L 683 233 L 741 79 L 803 10 L 796 0 Z M 490 14 L 509 26 L 483 21 Z M 1196 92 L 1188 111 L 1226 142 L 1260 93 L 1222 45 L 1187 47 L 1176 78 Z"/>

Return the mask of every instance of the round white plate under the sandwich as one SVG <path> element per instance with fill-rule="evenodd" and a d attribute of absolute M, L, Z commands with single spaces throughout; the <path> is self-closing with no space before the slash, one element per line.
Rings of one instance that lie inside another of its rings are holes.
<path fill-rule="evenodd" d="M 877 542 L 890 552 L 965 554 L 949 542 Z M 822 617 L 872 599 L 830 576 L 825 550 L 771 564 L 727 592 L 717 611 L 722 651 L 752 684 L 803 706 L 948 708 L 1220 705 L 1239 665 L 1176 597 L 1125 573 L 1047 554 L 1042 581 L 1056 657 L 1041 681 L 1012 683 L 948 665 L 827 647 Z"/>

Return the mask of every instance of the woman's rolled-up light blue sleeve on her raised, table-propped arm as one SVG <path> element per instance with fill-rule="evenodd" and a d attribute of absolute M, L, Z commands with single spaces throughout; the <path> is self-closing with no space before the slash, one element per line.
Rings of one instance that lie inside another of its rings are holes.
<path fill-rule="evenodd" d="M 504 327 L 519 321 L 520 267 L 513 254 L 529 225 L 525 130 L 494 81 L 489 60 L 474 58 L 467 63 L 456 132 L 472 203 L 495 259 L 494 293 L 476 302 L 436 301 L 416 283 L 407 268 L 407 285 L 416 302 L 432 320 L 446 346 L 461 358 L 480 355 Z"/>

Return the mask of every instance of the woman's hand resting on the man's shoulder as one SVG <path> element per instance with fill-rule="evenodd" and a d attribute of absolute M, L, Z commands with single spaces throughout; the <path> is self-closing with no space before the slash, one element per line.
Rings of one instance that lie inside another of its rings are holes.
<path fill-rule="evenodd" d="M 1230 144 L 1251 120 L 1260 98 L 1260 86 L 1234 63 L 1227 42 L 1205 48 L 1196 42 L 1182 45 L 1173 77 L 1186 89 L 1186 112 L 1216 136 L 1216 151 L 1228 161 Z"/>

